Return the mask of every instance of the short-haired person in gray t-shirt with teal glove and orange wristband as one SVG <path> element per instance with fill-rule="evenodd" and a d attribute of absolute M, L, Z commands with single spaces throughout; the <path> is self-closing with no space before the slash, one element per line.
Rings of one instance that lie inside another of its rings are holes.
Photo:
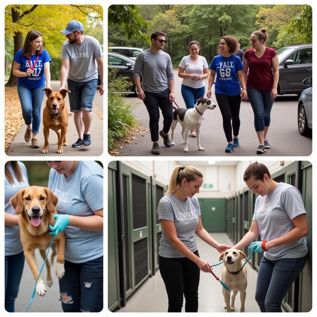
<path fill-rule="evenodd" d="M 255 194 L 250 230 L 234 248 L 264 252 L 256 281 L 256 302 L 261 312 L 282 312 L 281 302 L 307 261 L 308 224 L 300 191 L 277 183 L 261 163 L 250 164 L 243 180 Z"/>

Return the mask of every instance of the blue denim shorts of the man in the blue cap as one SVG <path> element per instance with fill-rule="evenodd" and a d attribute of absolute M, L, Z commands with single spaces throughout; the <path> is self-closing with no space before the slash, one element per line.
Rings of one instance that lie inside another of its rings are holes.
<path fill-rule="evenodd" d="M 84 82 L 67 80 L 67 87 L 71 92 L 68 94 L 70 112 L 92 111 L 97 83 L 98 79 Z"/>

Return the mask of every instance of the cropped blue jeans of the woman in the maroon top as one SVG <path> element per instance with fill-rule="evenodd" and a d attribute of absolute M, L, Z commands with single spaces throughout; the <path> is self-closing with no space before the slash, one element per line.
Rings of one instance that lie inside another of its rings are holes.
<path fill-rule="evenodd" d="M 264 131 L 264 126 L 270 125 L 270 113 L 275 100 L 271 100 L 271 90 L 260 91 L 248 88 L 248 99 L 254 113 L 254 127 L 256 128 L 256 132 Z"/>

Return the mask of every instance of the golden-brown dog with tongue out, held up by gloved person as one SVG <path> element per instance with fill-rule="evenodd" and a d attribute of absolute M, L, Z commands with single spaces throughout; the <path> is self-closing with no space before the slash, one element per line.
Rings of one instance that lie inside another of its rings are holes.
<path fill-rule="evenodd" d="M 36 264 L 35 249 L 40 249 L 43 260 L 46 257 L 46 249 L 49 248 L 52 235 L 49 234 L 49 223 L 54 225 L 55 219 L 53 214 L 57 214 L 55 209 L 58 198 L 53 192 L 46 187 L 31 186 L 18 191 L 11 199 L 10 203 L 15 209 L 18 216 L 20 227 L 21 242 L 26 261 L 32 271 L 34 280 L 36 281 L 39 271 Z M 52 243 L 52 256 L 56 255 L 57 247 L 57 263 L 55 274 L 61 279 L 65 274 L 64 269 L 64 250 L 65 250 L 65 234 L 60 232 L 54 236 Z M 46 260 L 48 286 L 53 284 L 51 277 L 51 263 Z M 42 277 L 36 284 L 36 293 L 44 296 L 46 288 L 42 281 Z"/>

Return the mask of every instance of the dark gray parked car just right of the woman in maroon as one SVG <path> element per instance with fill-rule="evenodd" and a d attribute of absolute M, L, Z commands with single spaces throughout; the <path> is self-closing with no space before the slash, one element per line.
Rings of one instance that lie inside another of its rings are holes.
<path fill-rule="evenodd" d="M 276 51 L 279 60 L 279 81 L 277 94 L 298 94 L 305 89 L 303 80 L 312 76 L 313 46 L 294 44 Z"/>

